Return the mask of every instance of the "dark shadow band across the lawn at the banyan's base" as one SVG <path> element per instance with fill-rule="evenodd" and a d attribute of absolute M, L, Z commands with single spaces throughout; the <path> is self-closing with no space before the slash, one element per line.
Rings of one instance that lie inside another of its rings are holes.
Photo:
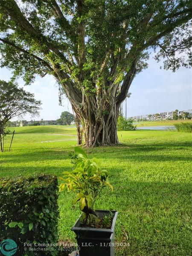
<path fill-rule="evenodd" d="M 174 147 L 173 147 L 174 145 Z M 187 161 L 191 162 L 191 157 L 175 150 L 191 150 L 191 143 L 177 143 L 175 144 L 156 144 L 151 145 L 137 145 L 137 144 L 119 144 L 118 146 L 113 147 L 98 147 L 93 149 L 85 149 L 88 151 L 89 157 L 98 157 L 99 159 L 119 159 L 126 161 L 135 161 L 135 162 L 159 162 L 159 161 Z M 183 148 L 185 147 L 185 148 Z M 50 160 L 70 160 L 69 151 L 73 148 L 62 148 L 62 150 L 55 149 L 45 149 L 41 148 L 38 151 L 25 152 L 21 151 L 18 154 L 9 154 L 6 155 L 5 160 L 1 160 L 1 163 L 27 163 L 33 161 L 50 161 Z M 175 153 L 176 152 L 176 153 Z M 171 153 L 171 154 L 170 154 Z M 102 155 L 101 155 L 102 154 Z"/>

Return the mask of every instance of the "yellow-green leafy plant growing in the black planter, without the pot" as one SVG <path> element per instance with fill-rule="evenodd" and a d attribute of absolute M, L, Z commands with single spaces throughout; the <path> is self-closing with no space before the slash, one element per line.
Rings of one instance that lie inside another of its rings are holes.
<path fill-rule="evenodd" d="M 74 169 L 63 172 L 59 191 L 66 188 L 68 192 L 76 192 L 73 204 L 79 202 L 80 210 L 86 214 L 86 224 L 90 214 L 96 215 L 93 207 L 103 188 L 108 186 L 113 191 L 113 186 L 108 180 L 109 172 L 102 169 L 97 158 L 88 159 L 87 154 L 79 147 L 75 147 L 75 154 L 71 158 Z"/>

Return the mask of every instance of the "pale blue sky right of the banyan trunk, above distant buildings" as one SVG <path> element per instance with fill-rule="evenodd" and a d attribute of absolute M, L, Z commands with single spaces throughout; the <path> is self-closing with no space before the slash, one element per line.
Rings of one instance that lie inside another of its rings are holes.
<path fill-rule="evenodd" d="M 160 69 L 162 63 L 152 55 L 148 64 L 131 84 L 127 115 L 192 109 L 192 69 L 180 67 L 175 73 Z"/>

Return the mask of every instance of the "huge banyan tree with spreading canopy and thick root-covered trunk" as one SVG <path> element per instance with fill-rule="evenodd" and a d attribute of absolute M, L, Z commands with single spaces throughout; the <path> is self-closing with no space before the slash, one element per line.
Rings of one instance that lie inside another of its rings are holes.
<path fill-rule="evenodd" d="M 149 52 L 173 71 L 191 64 L 191 13 L 191 0 L 0 0 L 1 65 L 26 84 L 54 76 L 78 144 L 83 134 L 87 146 L 113 145 L 119 106 Z"/>

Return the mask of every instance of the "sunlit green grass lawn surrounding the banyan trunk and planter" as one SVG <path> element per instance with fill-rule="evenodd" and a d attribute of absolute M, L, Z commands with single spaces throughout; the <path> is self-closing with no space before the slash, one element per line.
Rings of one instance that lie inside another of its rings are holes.
<path fill-rule="evenodd" d="M 13 130 L 13 128 L 12 128 Z M 0 176 L 50 173 L 72 167 L 68 152 L 76 129 L 63 126 L 15 128 L 11 152 L 0 154 Z M 11 137 L 6 138 L 6 149 Z M 115 209 L 116 256 L 191 255 L 191 134 L 175 131 L 123 131 L 120 145 L 86 149 L 111 172 L 113 192 L 105 190 L 96 209 Z M 75 241 L 70 231 L 79 215 L 73 193 L 59 196 L 60 241 Z"/>

